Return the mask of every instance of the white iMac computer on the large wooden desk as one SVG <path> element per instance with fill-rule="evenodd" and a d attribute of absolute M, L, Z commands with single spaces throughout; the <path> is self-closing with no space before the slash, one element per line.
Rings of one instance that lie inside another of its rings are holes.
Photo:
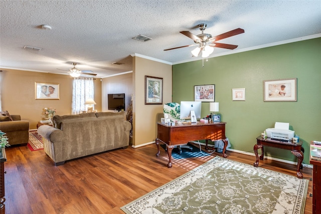
<path fill-rule="evenodd" d="M 196 123 L 201 118 L 202 102 L 200 101 L 181 101 L 180 119 L 189 119 Z"/>

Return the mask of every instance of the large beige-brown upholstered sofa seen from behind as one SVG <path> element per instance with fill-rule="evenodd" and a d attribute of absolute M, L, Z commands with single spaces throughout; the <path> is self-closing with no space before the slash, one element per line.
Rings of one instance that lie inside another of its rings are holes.
<path fill-rule="evenodd" d="M 53 127 L 40 126 L 45 153 L 56 166 L 67 160 L 127 148 L 131 124 L 125 112 L 54 116 Z"/>

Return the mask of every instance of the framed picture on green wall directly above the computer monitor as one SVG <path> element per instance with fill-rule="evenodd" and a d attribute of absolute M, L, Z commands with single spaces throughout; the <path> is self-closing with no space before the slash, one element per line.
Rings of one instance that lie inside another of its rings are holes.
<path fill-rule="evenodd" d="M 215 85 L 195 85 L 194 101 L 215 102 Z"/>

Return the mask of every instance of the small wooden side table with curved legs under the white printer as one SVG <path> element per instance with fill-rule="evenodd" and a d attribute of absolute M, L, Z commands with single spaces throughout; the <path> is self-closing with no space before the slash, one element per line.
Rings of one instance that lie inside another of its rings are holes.
<path fill-rule="evenodd" d="M 296 176 L 298 178 L 303 178 L 303 175 L 300 172 L 300 168 L 302 167 L 303 152 L 304 152 L 304 149 L 302 148 L 302 143 L 295 144 L 295 143 L 292 143 L 291 141 L 282 142 L 282 141 L 278 141 L 278 140 L 272 140 L 271 138 L 264 139 L 261 136 L 257 137 L 256 140 L 257 140 L 257 143 L 254 145 L 254 153 L 256 156 L 256 161 L 253 164 L 255 167 L 258 167 L 258 165 L 259 165 L 259 157 L 257 154 L 258 149 L 261 149 L 261 152 L 262 152 L 262 154 L 260 156 L 260 160 L 263 160 L 263 158 L 264 158 L 263 146 L 291 150 L 291 153 L 297 157 Z"/>

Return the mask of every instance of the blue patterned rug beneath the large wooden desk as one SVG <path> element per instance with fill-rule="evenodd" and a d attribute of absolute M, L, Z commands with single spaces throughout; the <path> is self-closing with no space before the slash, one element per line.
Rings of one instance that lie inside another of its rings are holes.
<path fill-rule="evenodd" d="M 172 158 L 174 158 L 174 159 L 196 158 L 196 157 L 204 157 L 204 156 L 210 155 L 204 151 L 201 152 L 200 147 L 196 147 L 193 144 L 188 144 L 188 146 L 191 146 L 193 148 L 193 150 L 191 151 L 190 149 L 182 148 L 181 154 L 179 154 L 178 148 L 174 148 L 172 150 Z M 161 147 L 165 150 L 166 144 L 161 144 Z"/>

